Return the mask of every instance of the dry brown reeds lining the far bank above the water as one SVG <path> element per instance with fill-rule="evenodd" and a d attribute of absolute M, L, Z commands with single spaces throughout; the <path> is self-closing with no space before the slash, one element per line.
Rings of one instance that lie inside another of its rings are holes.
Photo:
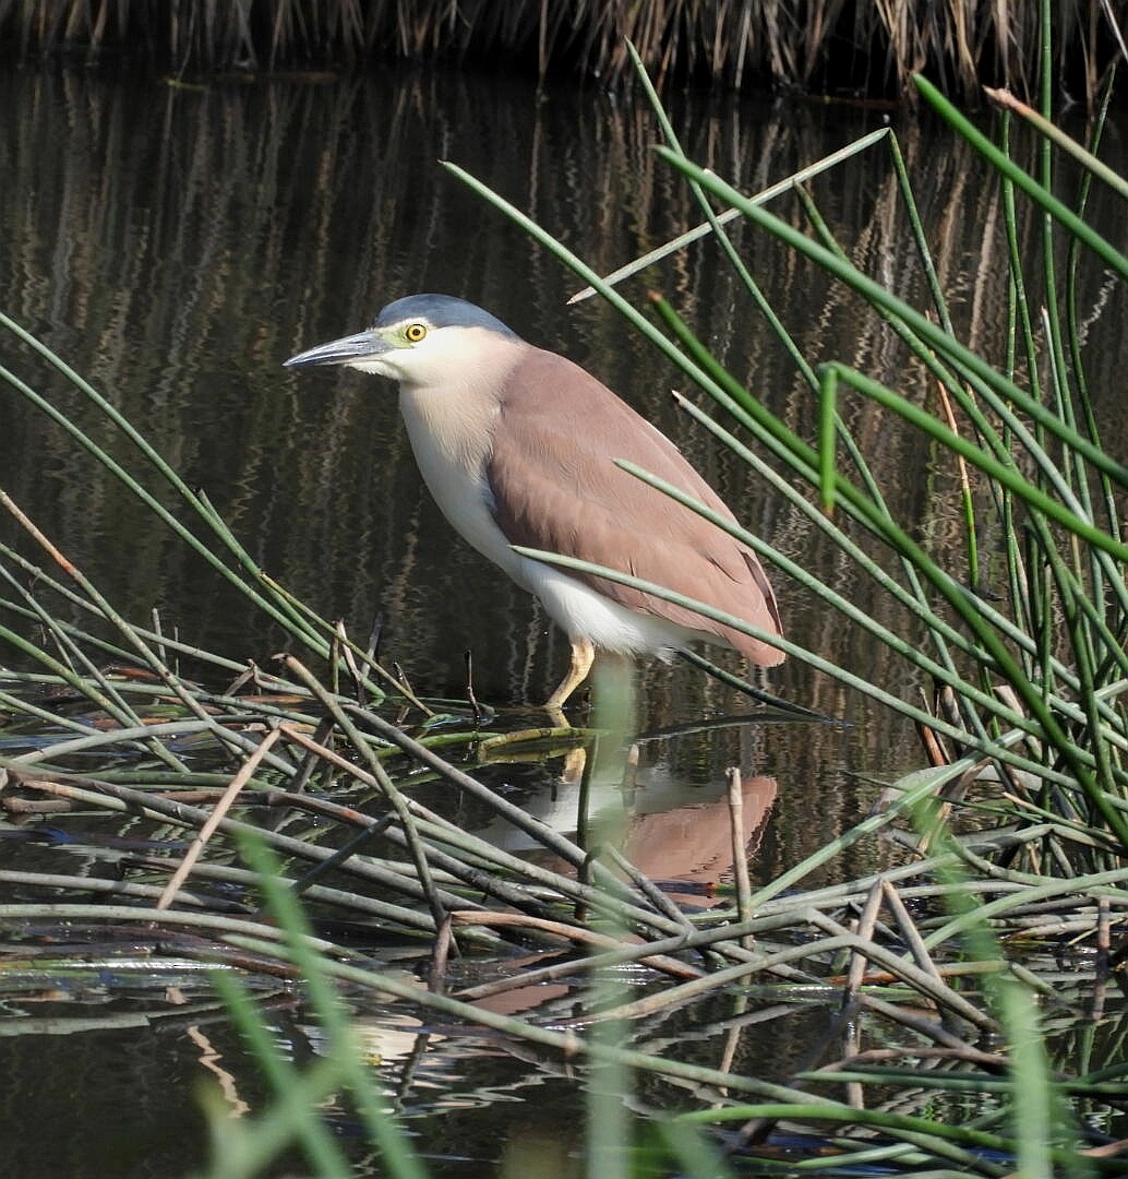
<path fill-rule="evenodd" d="M 356 64 L 372 58 L 506 60 L 540 77 L 578 67 L 601 79 L 628 72 L 625 42 L 658 75 L 681 74 L 740 86 L 897 93 L 913 71 L 952 91 L 979 80 L 1028 88 L 1037 74 L 1035 5 L 967 0 L 279 0 L 270 20 L 235 0 L 187 8 L 120 2 L 0 5 L 0 37 L 29 51 L 143 48 L 178 71 Z M 1107 65 L 1115 34 L 1101 4 L 1062 5 L 1056 72 L 1087 97 Z"/>

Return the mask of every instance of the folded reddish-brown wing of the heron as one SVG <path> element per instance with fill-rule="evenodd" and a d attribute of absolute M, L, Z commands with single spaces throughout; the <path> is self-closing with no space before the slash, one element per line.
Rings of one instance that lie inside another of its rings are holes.
<path fill-rule="evenodd" d="M 495 518 L 509 541 L 629 573 L 781 633 L 756 553 L 615 459 L 734 519 L 681 452 L 626 402 L 565 357 L 530 348 L 502 394 L 487 470 Z M 773 647 L 661 598 L 575 577 L 624 606 L 715 634 L 753 663 L 783 659 Z"/>

